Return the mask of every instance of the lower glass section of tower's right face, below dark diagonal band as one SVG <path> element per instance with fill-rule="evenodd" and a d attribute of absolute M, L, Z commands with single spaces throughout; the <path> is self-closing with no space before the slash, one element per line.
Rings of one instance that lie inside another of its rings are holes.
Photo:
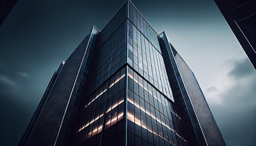
<path fill-rule="evenodd" d="M 131 68 L 127 101 L 127 145 L 187 146 L 179 110 Z"/>

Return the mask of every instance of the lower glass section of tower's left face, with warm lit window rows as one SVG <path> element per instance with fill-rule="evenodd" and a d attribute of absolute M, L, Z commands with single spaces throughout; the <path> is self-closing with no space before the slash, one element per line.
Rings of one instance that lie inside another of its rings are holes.
<path fill-rule="evenodd" d="M 109 80 L 86 98 L 74 129 L 76 133 L 74 142 L 76 144 L 108 143 L 106 140 L 110 138 L 110 135 L 111 137 L 123 135 L 124 83 L 125 67 L 117 71 L 115 75 L 112 75 Z M 118 126 L 118 130 L 113 125 Z M 113 127 L 110 128 L 110 126 Z M 116 145 L 121 145 L 121 142 L 116 142 Z"/>

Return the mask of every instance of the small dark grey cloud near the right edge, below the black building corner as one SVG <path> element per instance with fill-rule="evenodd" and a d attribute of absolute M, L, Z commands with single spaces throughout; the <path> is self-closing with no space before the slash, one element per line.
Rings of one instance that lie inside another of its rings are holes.
<path fill-rule="evenodd" d="M 241 78 L 255 73 L 255 69 L 248 58 L 235 60 L 233 64 L 234 68 L 228 73 L 229 76 Z"/>

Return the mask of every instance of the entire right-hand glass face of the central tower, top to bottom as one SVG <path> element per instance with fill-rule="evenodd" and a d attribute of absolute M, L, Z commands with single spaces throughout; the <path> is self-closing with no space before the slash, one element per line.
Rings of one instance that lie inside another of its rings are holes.
<path fill-rule="evenodd" d="M 127 145 L 187 146 L 157 33 L 129 2 Z"/>

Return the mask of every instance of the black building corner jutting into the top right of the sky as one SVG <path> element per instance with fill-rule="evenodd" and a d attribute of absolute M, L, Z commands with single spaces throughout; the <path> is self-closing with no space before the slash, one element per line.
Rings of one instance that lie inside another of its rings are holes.
<path fill-rule="evenodd" d="M 256 69 L 256 0 L 214 0 Z"/>

